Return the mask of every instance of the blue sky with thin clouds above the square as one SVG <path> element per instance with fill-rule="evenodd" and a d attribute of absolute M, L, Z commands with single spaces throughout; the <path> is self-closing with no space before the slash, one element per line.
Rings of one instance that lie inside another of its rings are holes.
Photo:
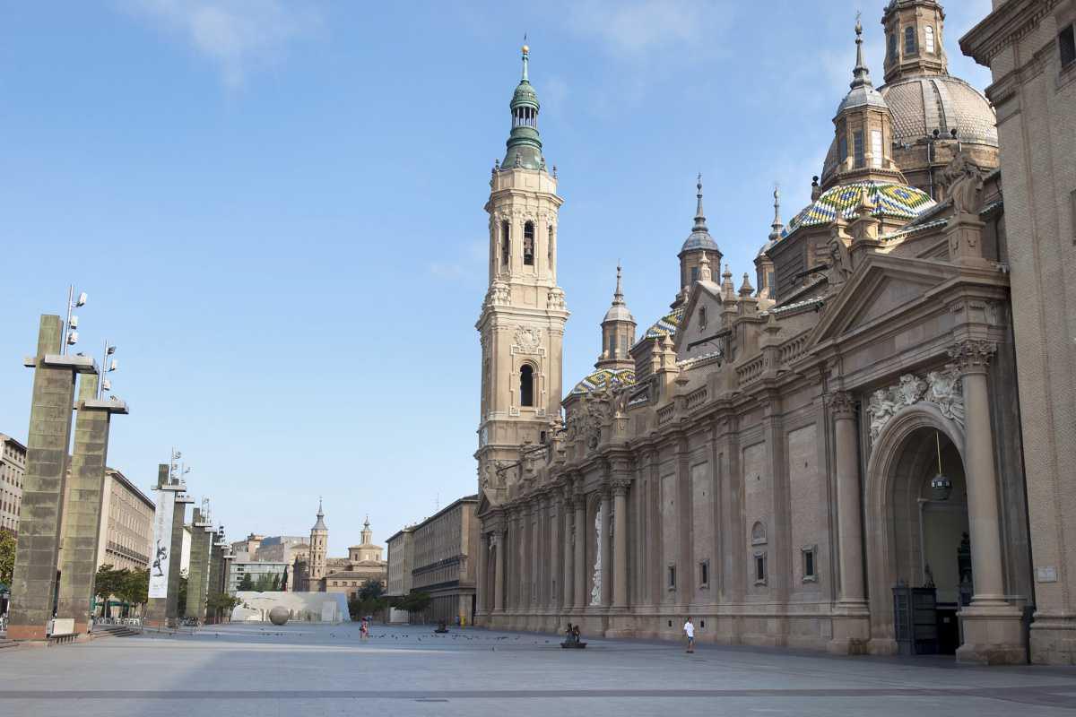
<path fill-rule="evenodd" d="M 230 540 L 376 542 L 477 490 L 490 169 L 530 46 L 565 200 L 566 388 L 615 266 L 639 329 L 678 287 L 703 174 L 736 284 L 806 205 L 884 0 L 3 0 L 0 432 L 26 440 L 38 316 L 118 346 L 109 463 L 148 490 L 174 446 Z M 950 0 L 958 40 L 990 0 Z"/>

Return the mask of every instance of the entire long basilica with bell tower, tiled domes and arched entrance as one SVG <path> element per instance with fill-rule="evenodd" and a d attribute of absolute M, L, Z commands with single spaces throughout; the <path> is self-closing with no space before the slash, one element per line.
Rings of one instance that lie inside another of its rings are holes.
<path fill-rule="evenodd" d="M 1027 660 L 996 119 L 948 73 L 944 20 L 889 2 L 877 87 L 856 25 L 810 205 L 785 223 L 775 191 L 734 282 L 699 180 L 670 311 L 640 329 L 618 268 L 595 371 L 566 391 L 562 199 L 524 47 L 477 324 L 479 623 L 675 639 L 690 615 L 700 641 Z"/>

